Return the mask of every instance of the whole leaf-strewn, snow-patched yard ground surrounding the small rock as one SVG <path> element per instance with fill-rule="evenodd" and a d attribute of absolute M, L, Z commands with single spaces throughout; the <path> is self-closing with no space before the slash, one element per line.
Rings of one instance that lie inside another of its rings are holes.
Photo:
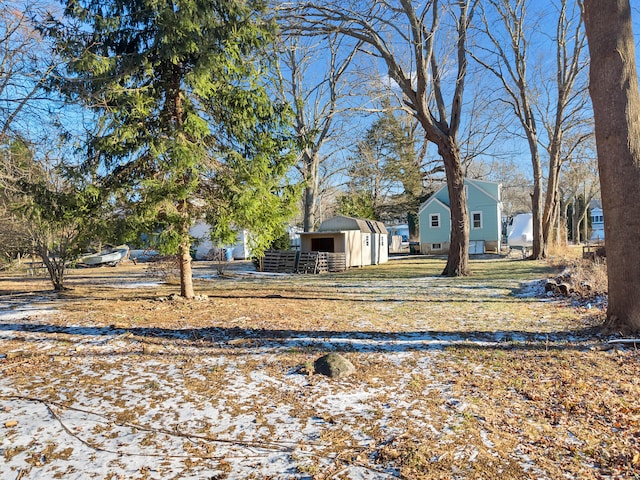
<path fill-rule="evenodd" d="M 640 477 L 640 355 L 603 313 L 544 263 L 443 266 L 198 263 L 190 302 L 148 265 L 5 274 L 0 479 Z M 327 352 L 356 373 L 313 374 Z"/>

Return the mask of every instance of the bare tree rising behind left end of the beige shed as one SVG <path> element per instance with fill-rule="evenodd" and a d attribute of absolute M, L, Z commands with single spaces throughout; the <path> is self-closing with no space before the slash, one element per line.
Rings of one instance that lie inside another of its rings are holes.
<path fill-rule="evenodd" d="M 321 183 L 333 173 L 328 144 L 339 136 L 341 115 L 349 109 L 344 100 L 351 92 L 345 77 L 359 42 L 345 45 L 336 35 L 298 35 L 287 19 L 282 22 L 287 35 L 281 45 L 279 91 L 294 109 L 301 146 L 297 168 L 304 182 L 303 228 L 309 232 L 317 226 Z"/>

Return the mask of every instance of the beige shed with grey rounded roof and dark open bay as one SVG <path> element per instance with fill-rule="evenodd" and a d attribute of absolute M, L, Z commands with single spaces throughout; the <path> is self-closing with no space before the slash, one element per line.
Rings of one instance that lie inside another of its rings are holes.
<path fill-rule="evenodd" d="M 388 232 L 382 222 L 337 216 L 300 233 L 300 251 L 344 253 L 347 268 L 377 265 L 389 260 Z"/>

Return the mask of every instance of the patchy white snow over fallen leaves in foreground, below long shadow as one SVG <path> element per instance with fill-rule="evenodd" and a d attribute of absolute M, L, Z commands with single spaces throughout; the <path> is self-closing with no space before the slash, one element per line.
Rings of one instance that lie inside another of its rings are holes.
<path fill-rule="evenodd" d="M 44 364 L 24 357 L 23 365 L 39 371 L 29 385 L 13 376 L 0 381 L 3 480 L 311 478 L 306 470 L 327 469 L 340 478 L 394 478 L 396 471 L 367 457 L 378 447 L 367 429 L 383 430 L 391 441 L 402 432 L 388 415 L 400 407 L 404 421 L 437 431 L 406 389 L 416 375 L 429 377 L 430 356 L 407 350 L 442 340 L 338 339 L 340 348 L 387 351 L 369 354 L 370 364 L 414 365 L 392 384 L 371 378 L 363 385 L 309 376 L 280 354 L 317 338 L 295 336 L 258 349 L 230 339 L 232 354 L 220 355 L 177 337 L 159 345 L 118 329 L 39 327 L 45 318 L 31 313 L 14 329 L 2 328 L 2 340 L 29 342 L 48 355 Z M 446 395 L 442 386 L 428 388 Z M 334 435 L 344 437 L 337 451 L 322 441 Z"/>

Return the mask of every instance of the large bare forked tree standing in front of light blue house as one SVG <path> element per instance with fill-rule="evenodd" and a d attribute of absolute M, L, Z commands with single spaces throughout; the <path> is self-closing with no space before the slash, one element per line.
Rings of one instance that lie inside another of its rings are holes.
<path fill-rule="evenodd" d="M 295 4 L 288 10 L 306 31 L 354 38 L 362 42 L 362 52 L 383 61 L 402 91 L 404 107 L 437 146 L 451 203 L 451 243 L 443 271 L 449 276 L 469 273 L 469 218 L 458 133 L 467 73 L 467 30 L 476 3 L 327 0 Z M 449 19 L 453 40 L 444 28 L 443 20 Z M 447 61 L 453 64 L 452 73 Z M 448 93 L 449 104 L 445 101 Z"/>

